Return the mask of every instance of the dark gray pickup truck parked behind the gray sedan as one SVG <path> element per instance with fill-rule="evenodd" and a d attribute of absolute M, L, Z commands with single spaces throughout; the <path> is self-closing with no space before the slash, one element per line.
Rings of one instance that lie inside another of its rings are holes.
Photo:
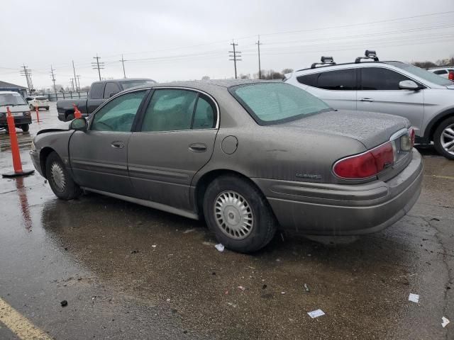
<path fill-rule="evenodd" d="M 82 116 L 87 116 L 96 110 L 104 101 L 111 98 L 118 92 L 130 89 L 135 86 L 143 86 L 146 84 L 155 84 L 152 79 L 115 79 L 95 81 L 90 86 L 90 91 L 87 99 L 63 99 L 57 101 L 58 119 L 67 122 L 74 119 L 74 104 L 76 104 Z"/>

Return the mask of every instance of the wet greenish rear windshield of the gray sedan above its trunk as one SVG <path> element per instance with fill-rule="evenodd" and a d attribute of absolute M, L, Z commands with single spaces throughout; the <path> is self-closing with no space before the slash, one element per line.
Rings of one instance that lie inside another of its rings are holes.
<path fill-rule="evenodd" d="M 260 125 L 284 123 L 333 110 L 319 98 L 284 83 L 245 84 L 228 91 Z"/>

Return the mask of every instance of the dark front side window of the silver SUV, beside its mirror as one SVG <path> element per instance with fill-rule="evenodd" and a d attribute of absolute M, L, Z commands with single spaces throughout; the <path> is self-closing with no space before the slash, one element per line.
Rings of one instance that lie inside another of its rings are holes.
<path fill-rule="evenodd" d="M 399 90 L 399 82 L 411 80 L 403 74 L 383 69 L 382 67 L 365 67 L 361 69 L 360 90 Z"/>

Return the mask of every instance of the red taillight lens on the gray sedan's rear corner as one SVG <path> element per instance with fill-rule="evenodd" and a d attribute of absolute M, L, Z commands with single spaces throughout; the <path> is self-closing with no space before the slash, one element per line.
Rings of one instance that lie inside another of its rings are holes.
<path fill-rule="evenodd" d="M 375 176 L 384 168 L 394 163 L 392 142 L 336 162 L 333 172 L 343 179 L 366 179 Z"/>

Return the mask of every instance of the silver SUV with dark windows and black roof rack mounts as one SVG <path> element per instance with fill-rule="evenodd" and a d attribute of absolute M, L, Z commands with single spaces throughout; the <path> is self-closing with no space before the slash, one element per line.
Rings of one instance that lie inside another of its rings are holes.
<path fill-rule="evenodd" d="M 336 64 L 322 57 L 309 69 L 284 79 L 326 101 L 331 107 L 401 115 L 416 132 L 416 142 L 433 141 L 454 159 L 454 82 L 404 62 L 380 62 L 374 51 L 355 62 Z"/>

